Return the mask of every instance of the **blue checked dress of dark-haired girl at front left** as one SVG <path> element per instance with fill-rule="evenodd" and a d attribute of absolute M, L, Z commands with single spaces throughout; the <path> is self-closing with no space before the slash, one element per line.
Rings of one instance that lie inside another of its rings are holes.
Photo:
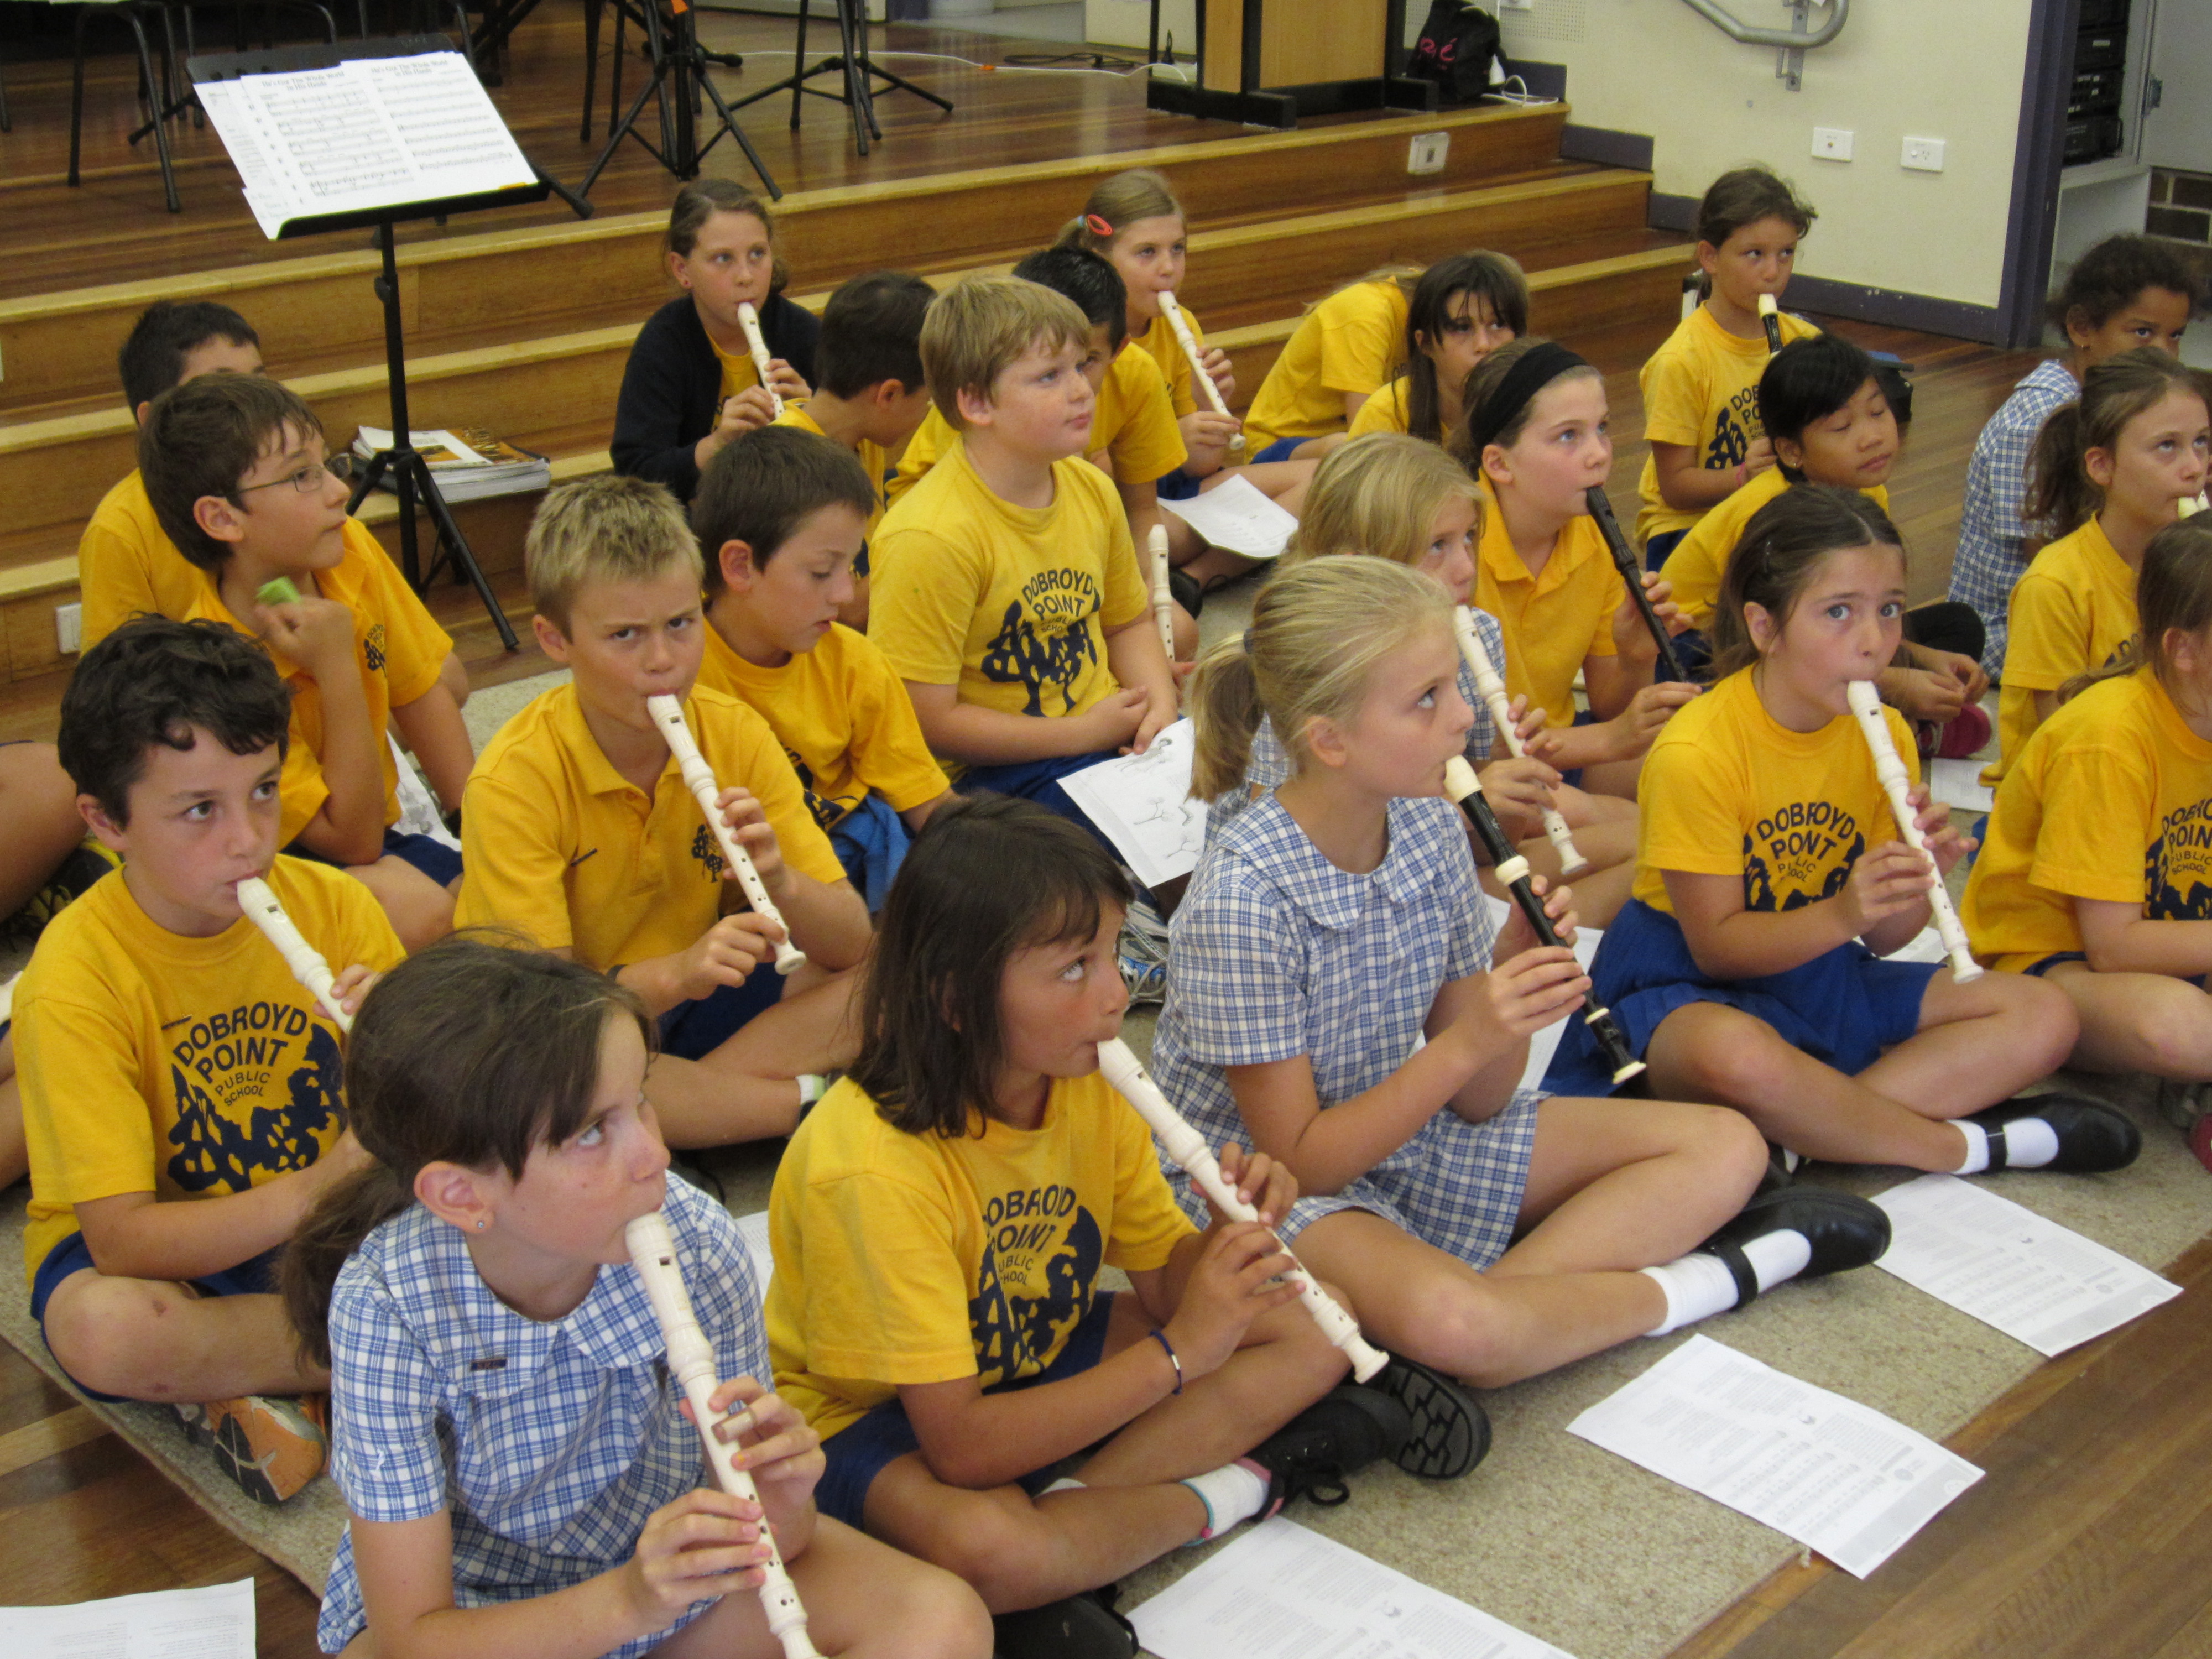
<path fill-rule="evenodd" d="M 761 1287 L 737 1223 L 679 1179 L 664 1210 L 719 1374 L 765 1380 Z M 330 1473 L 361 1520 L 449 1513 L 460 1608 L 597 1577 L 630 1557 L 653 1511 L 706 1480 L 635 1267 L 602 1267 L 566 1318 L 524 1318 L 478 1276 L 467 1239 L 418 1203 L 341 1270 L 330 1347 Z M 347 1533 L 316 1641 L 336 1652 L 363 1624 Z"/>

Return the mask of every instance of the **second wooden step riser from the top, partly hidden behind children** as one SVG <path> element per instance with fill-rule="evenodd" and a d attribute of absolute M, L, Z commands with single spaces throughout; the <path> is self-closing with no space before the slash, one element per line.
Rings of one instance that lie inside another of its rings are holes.
<path fill-rule="evenodd" d="M 1391 261 L 1427 263 L 1471 246 L 1513 248 L 1537 234 L 1588 237 L 1606 226 L 1641 241 L 1648 190 L 1646 173 L 1593 173 L 1542 188 L 1489 186 L 1442 192 L 1418 206 L 1208 230 L 1190 241 L 1192 268 L 1206 272 L 1203 281 L 1188 283 L 1190 303 L 1201 316 L 1212 299 L 1223 305 L 1234 299 L 1248 312 L 1296 314 L 1345 276 Z M 1542 243 L 1528 263 L 1542 270 Z M 799 299 L 821 310 L 827 294 Z M 619 323 L 411 358 L 411 420 L 422 429 L 489 427 L 518 442 L 531 442 L 549 425 L 599 420 L 604 445 L 613 436 L 615 398 L 637 327 Z M 389 420 L 380 363 L 296 376 L 290 385 L 314 405 L 332 447 L 352 442 L 363 422 Z M 0 427 L 0 500 L 9 502 L 11 526 L 80 524 L 133 467 L 135 447 L 131 414 L 113 405 Z"/>

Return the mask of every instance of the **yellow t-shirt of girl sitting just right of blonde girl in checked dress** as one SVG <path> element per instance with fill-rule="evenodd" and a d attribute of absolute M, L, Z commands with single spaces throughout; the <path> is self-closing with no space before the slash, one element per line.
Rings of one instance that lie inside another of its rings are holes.
<path fill-rule="evenodd" d="M 1893 708 L 1882 719 L 1918 783 L 1911 728 Z M 1785 911 L 1834 898 L 1867 847 L 1898 838 L 1858 719 L 1792 732 L 1759 701 L 1750 668 L 1659 728 L 1637 799 L 1635 896 L 1668 916 L 1668 869 L 1743 876 L 1745 909 Z"/>

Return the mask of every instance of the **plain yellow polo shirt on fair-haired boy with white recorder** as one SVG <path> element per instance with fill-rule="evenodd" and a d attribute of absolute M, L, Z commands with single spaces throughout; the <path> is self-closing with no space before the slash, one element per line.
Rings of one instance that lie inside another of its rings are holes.
<path fill-rule="evenodd" d="M 706 686 L 684 699 L 684 719 L 714 781 L 759 796 L 783 863 L 845 880 L 768 721 Z M 476 757 L 465 801 L 456 927 L 520 927 L 613 971 L 684 951 L 723 909 L 745 907 L 743 889 L 721 878 L 721 845 L 677 757 L 648 796 L 606 759 L 575 684 L 542 692 L 500 728 Z"/>

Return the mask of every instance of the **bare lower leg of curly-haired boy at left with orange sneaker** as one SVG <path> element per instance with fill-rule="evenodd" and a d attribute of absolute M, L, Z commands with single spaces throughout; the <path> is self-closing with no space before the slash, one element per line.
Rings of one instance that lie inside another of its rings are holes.
<path fill-rule="evenodd" d="M 46 1343 L 102 1394 L 170 1405 L 239 1394 L 321 1394 L 276 1296 L 195 1296 L 159 1279 L 73 1272 L 46 1301 Z"/>

